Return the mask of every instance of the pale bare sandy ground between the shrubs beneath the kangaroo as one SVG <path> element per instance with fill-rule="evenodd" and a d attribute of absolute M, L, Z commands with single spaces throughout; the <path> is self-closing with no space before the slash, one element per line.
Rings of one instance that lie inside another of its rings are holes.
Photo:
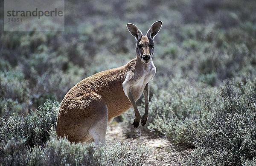
<path fill-rule="evenodd" d="M 106 141 L 107 142 L 131 142 L 132 138 L 126 138 L 122 132 L 122 123 L 109 124 L 107 129 Z M 152 139 L 148 136 L 141 136 L 136 139 L 137 142 L 144 143 L 151 146 L 153 152 L 145 166 L 177 166 L 174 159 L 179 160 L 183 155 L 191 152 L 186 150 L 182 152 L 175 152 L 174 147 L 163 138 Z"/>

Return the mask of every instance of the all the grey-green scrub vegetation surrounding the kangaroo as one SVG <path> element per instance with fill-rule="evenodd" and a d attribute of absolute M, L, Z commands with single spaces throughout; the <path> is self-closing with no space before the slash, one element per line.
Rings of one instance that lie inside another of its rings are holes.
<path fill-rule="evenodd" d="M 71 87 L 135 57 L 126 23 L 145 33 L 156 20 L 163 27 L 155 40 L 148 122 L 132 128 L 129 110 L 119 117 L 125 135 L 166 138 L 177 151 L 193 149 L 177 160 L 180 165 L 256 164 L 254 0 L 65 6 L 64 32 L 5 32 L 1 13 L 1 165 L 145 164 L 148 146 L 72 144 L 57 140 L 54 130 L 59 103 Z M 137 103 L 143 114 L 144 99 Z"/>

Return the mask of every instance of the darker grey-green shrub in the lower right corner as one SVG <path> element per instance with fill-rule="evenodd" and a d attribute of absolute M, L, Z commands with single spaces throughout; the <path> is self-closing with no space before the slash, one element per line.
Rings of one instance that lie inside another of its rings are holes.
<path fill-rule="evenodd" d="M 223 102 L 211 106 L 208 125 L 195 135 L 196 149 L 183 160 L 184 165 L 255 163 L 256 79 L 227 81 L 219 93 Z"/>

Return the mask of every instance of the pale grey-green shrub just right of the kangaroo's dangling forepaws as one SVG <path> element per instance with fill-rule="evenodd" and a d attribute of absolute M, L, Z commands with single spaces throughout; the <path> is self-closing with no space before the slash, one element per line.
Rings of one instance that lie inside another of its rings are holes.
<path fill-rule="evenodd" d="M 147 125 L 139 129 L 126 127 L 127 137 L 136 136 L 136 132 L 150 134 L 152 136 L 165 137 L 177 146 L 193 147 L 193 138 L 190 133 L 201 132 L 201 127 L 205 124 L 205 117 L 208 110 L 204 109 L 204 100 L 209 102 L 214 100 L 209 95 L 204 94 L 201 87 L 204 84 L 191 84 L 186 79 L 172 79 L 167 83 L 164 90 L 159 87 L 151 87 L 156 90 L 149 103 L 149 115 Z M 214 94 L 214 89 L 209 91 Z M 144 104 L 139 107 L 143 115 Z M 129 111 L 124 116 L 129 119 L 126 124 L 131 124 L 134 119 L 133 111 Z M 135 133 L 134 133 L 135 132 Z"/>

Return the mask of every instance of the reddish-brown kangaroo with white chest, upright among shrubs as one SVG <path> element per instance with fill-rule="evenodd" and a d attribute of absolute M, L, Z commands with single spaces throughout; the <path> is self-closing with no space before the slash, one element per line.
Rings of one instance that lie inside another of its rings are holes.
<path fill-rule="evenodd" d="M 105 143 L 108 122 L 124 113 L 131 106 L 135 119 L 132 125 L 142 126 L 148 118 L 148 82 L 154 77 L 156 67 L 152 61 L 154 37 L 162 21 L 151 25 L 143 35 L 134 24 L 127 24 L 128 31 L 137 40 L 137 57 L 119 68 L 105 70 L 83 79 L 65 95 L 58 113 L 56 133 L 67 136 L 70 142 L 94 140 Z M 141 117 L 136 101 L 144 94 L 145 113 Z"/>

